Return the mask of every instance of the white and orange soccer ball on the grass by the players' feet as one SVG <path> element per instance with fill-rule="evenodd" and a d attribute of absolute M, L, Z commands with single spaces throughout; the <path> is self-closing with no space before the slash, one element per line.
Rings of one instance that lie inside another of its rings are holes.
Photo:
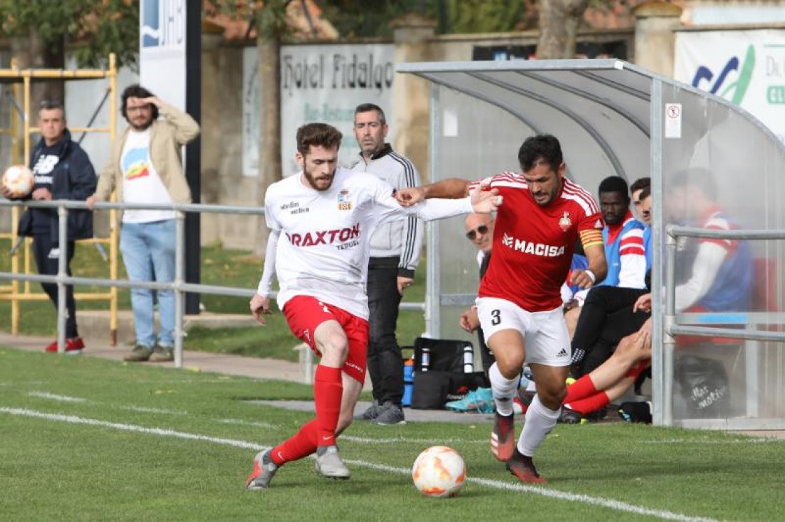
<path fill-rule="evenodd" d="M 429 447 L 414 461 L 411 478 L 423 495 L 455 497 L 466 482 L 466 463 L 451 447 Z"/>

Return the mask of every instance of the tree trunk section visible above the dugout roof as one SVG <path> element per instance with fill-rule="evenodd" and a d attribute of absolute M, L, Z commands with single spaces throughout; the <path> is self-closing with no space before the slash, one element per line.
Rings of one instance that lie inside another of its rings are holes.
<path fill-rule="evenodd" d="M 575 40 L 588 0 L 540 0 L 538 60 L 575 57 Z"/>

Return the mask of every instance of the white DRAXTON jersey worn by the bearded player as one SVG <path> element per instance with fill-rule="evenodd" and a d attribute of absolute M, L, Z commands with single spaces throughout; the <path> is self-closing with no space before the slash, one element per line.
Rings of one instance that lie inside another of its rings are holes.
<path fill-rule="evenodd" d="M 326 191 L 305 186 L 302 173 L 270 185 L 265 219 L 279 232 L 279 308 L 296 295 L 309 295 L 367 319 L 368 257 L 377 225 L 412 214 L 430 220 L 472 211 L 469 198 L 404 208 L 393 190 L 378 177 L 342 167 Z"/>

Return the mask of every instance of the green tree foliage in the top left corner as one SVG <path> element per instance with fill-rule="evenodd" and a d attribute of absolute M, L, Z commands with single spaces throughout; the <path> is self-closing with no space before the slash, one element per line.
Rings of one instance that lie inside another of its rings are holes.
<path fill-rule="evenodd" d="M 138 0 L 0 0 L 2 32 L 15 38 L 38 33 L 53 51 L 79 44 L 81 67 L 104 66 L 109 53 L 119 65 L 137 66 Z"/>

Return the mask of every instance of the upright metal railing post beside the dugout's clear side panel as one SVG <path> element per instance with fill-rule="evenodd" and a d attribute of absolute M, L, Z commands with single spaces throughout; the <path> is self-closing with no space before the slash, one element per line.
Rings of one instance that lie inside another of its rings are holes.
<path fill-rule="evenodd" d="M 674 423 L 674 349 L 676 338 L 670 334 L 670 327 L 676 323 L 676 236 L 666 229 L 665 265 L 665 320 L 663 336 L 663 424 Z"/>

